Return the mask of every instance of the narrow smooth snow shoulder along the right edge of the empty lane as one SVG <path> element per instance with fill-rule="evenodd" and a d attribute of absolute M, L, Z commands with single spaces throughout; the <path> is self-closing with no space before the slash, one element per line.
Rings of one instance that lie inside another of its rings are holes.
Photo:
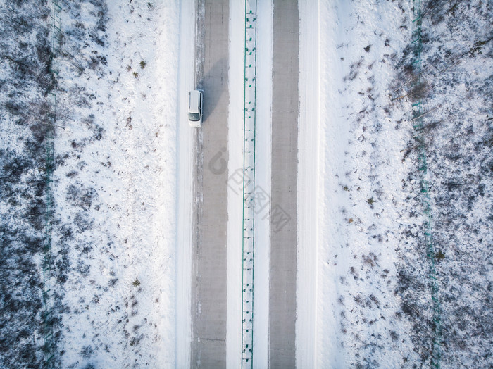
<path fill-rule="evenodd" d="M 298 252 L 296 363 L 315 368 L 320 145 L 319 1 L 299 2 Z"/>

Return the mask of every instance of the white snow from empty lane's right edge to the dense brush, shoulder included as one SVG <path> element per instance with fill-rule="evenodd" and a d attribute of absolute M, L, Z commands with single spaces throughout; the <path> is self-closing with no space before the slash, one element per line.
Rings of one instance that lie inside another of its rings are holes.
<path fill-rule="evenodd" d="M 394 316 L 408 136 L 395 129 L 406 111 L 384 108 L 403 11 L 308 1 L 300 15 L 297 365 L 396 368 L 396 352 L 413 357 L 410 327 Z"/>

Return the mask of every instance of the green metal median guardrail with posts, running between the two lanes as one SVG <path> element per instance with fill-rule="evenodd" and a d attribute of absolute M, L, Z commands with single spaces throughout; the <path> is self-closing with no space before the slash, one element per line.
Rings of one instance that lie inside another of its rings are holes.
<path fill-rule="evenodd" d="M 254 356 L 256 0 L 245 0 L 243 242 L 242 242 L 242 368 Z"/>

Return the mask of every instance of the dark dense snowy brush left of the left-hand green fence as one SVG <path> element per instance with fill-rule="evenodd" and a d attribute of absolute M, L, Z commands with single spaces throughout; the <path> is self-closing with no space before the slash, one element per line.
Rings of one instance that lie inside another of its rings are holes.
<path fill-rule="evenodd" d="M 49 73 L 50 9 L 46 1 L 1 3 L 0 366 L 39 368 L 47 94 L 56 83 Z"/>

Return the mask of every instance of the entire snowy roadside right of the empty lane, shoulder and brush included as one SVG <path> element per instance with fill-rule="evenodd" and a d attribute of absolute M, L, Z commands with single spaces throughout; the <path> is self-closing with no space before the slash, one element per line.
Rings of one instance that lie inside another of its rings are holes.
<path fill-rule="evenodd" d="M 492 9 L 411 6 L 300 7 L 301 367 L 491 365 Z"/>

